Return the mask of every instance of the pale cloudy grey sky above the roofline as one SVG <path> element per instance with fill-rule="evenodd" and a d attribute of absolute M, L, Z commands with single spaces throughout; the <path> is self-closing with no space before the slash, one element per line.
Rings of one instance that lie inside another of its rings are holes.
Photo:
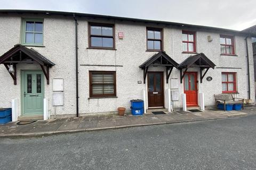
<path fill-rule="evenodd" d="M 256 24 L 256 0 L 1 0 L 0 8 L 115 15 L 235 30 Z"/>

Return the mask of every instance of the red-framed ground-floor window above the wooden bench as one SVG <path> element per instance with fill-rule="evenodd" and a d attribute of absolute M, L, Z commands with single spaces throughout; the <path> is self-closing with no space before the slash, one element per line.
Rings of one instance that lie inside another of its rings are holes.
<path fill-rule="evenodd" d="M 222 72 L 222 92 L 237 92 L 236 91 L 236 73 Z"/>

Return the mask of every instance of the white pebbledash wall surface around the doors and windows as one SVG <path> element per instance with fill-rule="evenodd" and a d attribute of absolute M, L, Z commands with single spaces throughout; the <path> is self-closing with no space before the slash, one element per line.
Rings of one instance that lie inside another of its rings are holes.
<path fill-rule="evenodd" d="M 75 81 L 75 22 L 67 16 L 57 15 L 0 15 L 0 55 L 4 54 L 13 45 L 20 43 L 21 17 L 43 18 L 44 19 L 44 47 L 34 48 L 47 57 L 56 65 L 50 69 L 50 84 L 45 81 L 45 98 L 49 98 L 49 111 L 53 115 L 52 106 L 52 79 L 64 79 L 64 106 L 57 107 L 57 115 L 76 113 L 76 81 Z M 88 21 L 115 24 L 115 45 L 116 50 L 87 49 L 88 44 Z M 174 26 L 153 25 L 140 22 L 128 21 L 105 21 L 88 20 L 78 18 L 78 79 L 79 79 L 79 113 L 104 113 L 116 112 L 117 107 L 124 106 L 130 109 L 131 99 L 142 99 L 142 89 L 146 89 L 147 82 L 143 84 L 143 71 L 139 68 L 143 62 L 156 52 L 146 52 L 146 27 L 163 28 L 163 50 L 177 63 L 181 63 L 190 54 L 182 53 L 182 29 Z M 221 94 L 221 72 L 237 72 L 236 97 L 248 97 L 247 64 L 245 37 L 235 36 L 235 51 L 237 56 L 220 55 L 220 34 L 226 32 L 204 32 L 195 29 L 184 28 L 184 30 L 196 31 L 197 53 L 204 53 L 213 61 L 215 69 L 210 69 L 205 75 L 203 83 L 199 82 L 199 70 L 190 68 L 188 71 L 198 72 L 198 92 L 204 93 L 205 106 L 214 105 L 214 94 Z M 124 33 L 123 39 L 118 39 L 118 32 Z M 207 41 L 207 36 L 213 38 L 212 42 Z M 254 101 L 254 72 L 253 56 L 250 38 L 250 77 L 251 96 Z M 86 65 L 121 65 L 121 66 L 86 66 Z M 222 69 L 221 67 L 233 67 L 234 69 Z M 21 84 L 20 71 L 38 69 L 38 65 L 18 64 L 17 85 L 5 67 L 0 65 L 0 107 L 11 107 L 11 100 L 18 99 L 18 111 L 20 114 Z M 116 71 L 116 94 L 117 98 L 89 98 L 89 71 Z M 149 67 L 148 71 L 164 72 L 164 91 L 170 88 L 166 83 L 165 67 Z M 206 77 L 211 76 L 212 81 Z M 180 83 L 180 72 L 173 69 L 170 78 L 177 78 L 179 81 L 179 101 L 174 101 L 174 108 L 182 107 L 183 83 Z M 142 81 L 138 84 L 137 81 Z M 147 94 L 146 94 L 147 96 Z M 166 97 L 165 97 L 166 98 Z M 147 102 L 147 101 L 146 101 Z M 166 102 L 165 102 L 166 105 Z"/>

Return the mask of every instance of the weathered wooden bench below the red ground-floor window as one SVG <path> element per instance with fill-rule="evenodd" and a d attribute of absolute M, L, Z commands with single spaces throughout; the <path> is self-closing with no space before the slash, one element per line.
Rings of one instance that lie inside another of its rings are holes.
<path fill-rule="evenodd" d="M 243 98 L 233 97 L 232 94 L 214 95 L 214 98 L 215 98 L 216 104 L 218 104 L 218 103 L 224 104 L 224 111 L 226 111 L 226 104 L 243 104 L 243 109 L 244 109 L 245 99 L 243 99 Z M 235 101 L 235 99 L 241 99 L 241 100 L 240 101 Z"/>

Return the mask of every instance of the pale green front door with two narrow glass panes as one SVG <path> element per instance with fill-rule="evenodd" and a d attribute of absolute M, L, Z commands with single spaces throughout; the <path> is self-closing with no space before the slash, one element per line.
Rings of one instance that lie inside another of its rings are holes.
<path fill-rule="evenodd" d="M 23 114 L 44 113 L 44 74 L 41 71 L 22 72 Z"/>

